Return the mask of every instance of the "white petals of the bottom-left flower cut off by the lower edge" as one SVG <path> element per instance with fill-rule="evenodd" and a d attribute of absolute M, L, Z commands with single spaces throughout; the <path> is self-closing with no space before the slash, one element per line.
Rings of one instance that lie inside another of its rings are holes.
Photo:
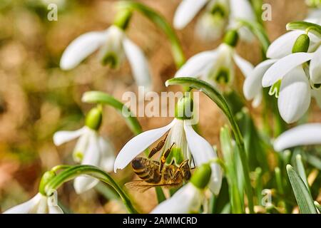
<path fill-rule="evenodd" d="M 55 195 L 46 197 L 38 193 L 29 201 L 11 207 L 4 214 L 63 214 Z"/>

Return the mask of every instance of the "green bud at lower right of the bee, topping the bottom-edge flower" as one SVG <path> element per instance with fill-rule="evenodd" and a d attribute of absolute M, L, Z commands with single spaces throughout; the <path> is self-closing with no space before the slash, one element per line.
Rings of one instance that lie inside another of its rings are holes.
<path fill-rule="evenodd" d="M 198 169 L 193 173 L 192 178 L 190 178 L 190 182 L 199 189 L 203 190 L 210 182 L 210 175 L 212 174 L 212 170 L 210 169 L 209 164 L 203 164 L 198 167 Z"/>

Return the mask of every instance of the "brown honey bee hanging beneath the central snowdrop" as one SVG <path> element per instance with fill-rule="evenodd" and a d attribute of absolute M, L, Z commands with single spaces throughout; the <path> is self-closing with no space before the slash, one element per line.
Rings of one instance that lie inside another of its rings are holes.
<path fill-rule="evenodd" d="M 167 138 L 167 135 L 165 139 Z M 151 187 L 163 186 L 163 187 L 180 187 L 183 182 L 190 180 L 190 165 L 188 160 L 184 160 L 179 166 L 176 166 L 174 162 L 170 165 L 165 165 L 166 158 L 170 154 L 173 145 L 163 152 L 161 160 L 151 160 L 151 157 L 163 148 L 165 139 L 156 145 L 151 150 L 151 153 L 146 157 L 136 157 L 131 162 L 133 171 L 141 178 L 133 182 L 126 183 L 126 187 L 133 187 L 136 190 L 146 191 Z"/>

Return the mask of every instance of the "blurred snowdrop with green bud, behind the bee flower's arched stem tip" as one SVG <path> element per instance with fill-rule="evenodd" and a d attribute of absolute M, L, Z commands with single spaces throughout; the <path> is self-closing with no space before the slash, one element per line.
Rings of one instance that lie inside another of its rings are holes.
<path fill-rule="evenodd" d="M 233 81 L 235 63 L 244 75 L 253 71 L 252 64 L 235 52 L 238 33 L 235 30 L 228 31 L 224 40 L 225 43 L 215 50 L 203 51 L 191 57 L 177 71 L 175 77 L 195 76 L 215 85 L 216 83 L 228 84 Z"/>

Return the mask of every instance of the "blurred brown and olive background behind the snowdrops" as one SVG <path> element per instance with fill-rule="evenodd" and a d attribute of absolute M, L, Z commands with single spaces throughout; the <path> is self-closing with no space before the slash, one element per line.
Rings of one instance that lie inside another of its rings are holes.
<path fill-rule="evenodd" d="M 73 143 L 57 148 L 52 136 L 56 130 L 81 128 L 83 114 L 91 108 L 81 103 L 83 92 L 102 90 L 121 99 L 123 92 L 136 90 L 128 63 L 118 70 L 110 70 L 101 66 L 93 55 L 73 71 L 58 68 L 61 53 L 74 38 L 110 26 L 116 1 L 68 0 L 64 6 L 58 6 L 58 21 L 48 21 L 46 6 L 39 2 L 0 1 L 0 212 L 36 194 L 44 171 L 61 163 L 73 164 Z M 161 12 L 171 23 L 180 0 L 141 2 Z M 265 22 L 271 41 L 285 33 L 287 22 L 302 20 L 307 15 L 304 0 L 265 2 L 272 5 L 272 21 Z M 187 57 L 220 43 L 201 41 L 195 36 L 194 25 L 195 20 L 178 31 Z M 163 33 L 136 13 L 127 34 L 148 56 L 155 90 L 167 90 L 164 82 L 174 75 L 175 65 Z M 240 43 L 238 53 L 255 65 L 260 62 L 256 42 Z M 236 78 L 239 83 L 235 85 L 241 91 L 243 76 L 238 72 Z M 201 101 L 201 133 L 209 142 L 218 143 L 218 131 L 225 118 L 207 98 L 202 97 Z M 320 122 L 320 110 L 313 110 L 310 120 Z M 253 115 L 260 112 L 251 111 Z M 133 135 L 115 110 L 106 108 L 104 114 L 101 133 L 108 136 L 119 151 Z M 140 121 L 143 129 L 148 130 L 165 125 L 169 119 L 141 118 Z M 115 177 L 123 182 L 131 175 L 131 170 L 126 169 Z M 139 205 L 144 212 L 156 204 L 153 190 L 131 193 L 136 199 L 143 197 Z M 71 182 L 61 187 L 58 197 L 73 212 L 125 212 L 116 200 L 107 201 L 94 190 L 76 195 Z"/>

